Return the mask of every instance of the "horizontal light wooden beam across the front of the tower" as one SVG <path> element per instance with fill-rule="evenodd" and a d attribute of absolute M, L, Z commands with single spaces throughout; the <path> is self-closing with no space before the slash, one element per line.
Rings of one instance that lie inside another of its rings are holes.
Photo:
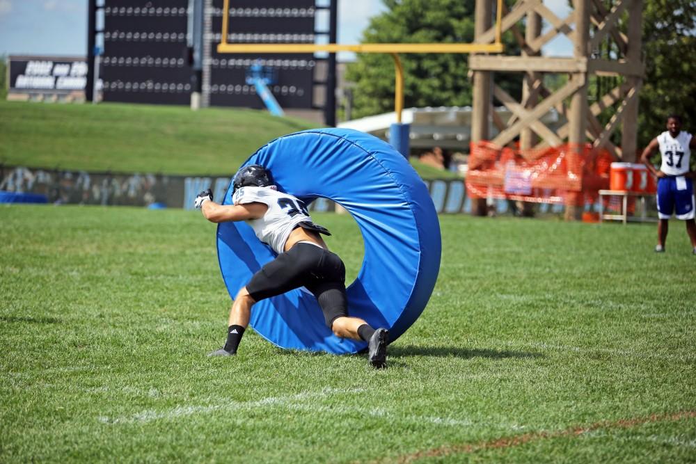
<path fill-rule="evenodd" d="M 586 72 L 587 58 L 471 55 L 469 69 L 500 72 Z"/>

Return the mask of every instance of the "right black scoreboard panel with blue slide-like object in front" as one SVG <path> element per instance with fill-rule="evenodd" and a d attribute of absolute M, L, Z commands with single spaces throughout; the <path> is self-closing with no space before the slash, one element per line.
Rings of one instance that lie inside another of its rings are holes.
<path fill-rule="evenodd" d="M 253 63 L 272 70 L 271 93 L 283 108 L 313 108 L 313 54 L 219 54 L 223 0 L 213 0 L 210 104 L 264 107 L 246 74 Z M 230 0 L 230 44 L 315 42 L 315 0 Z"/>

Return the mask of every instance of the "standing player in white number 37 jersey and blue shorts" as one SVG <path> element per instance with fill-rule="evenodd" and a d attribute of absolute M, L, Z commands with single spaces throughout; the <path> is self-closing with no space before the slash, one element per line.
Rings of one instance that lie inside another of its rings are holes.
<path fill-rule="evenodd" d="M 653 166 L 649 158 L 659 148 L 662 157 L 660 169 Z M 691 240 L 693 254 L 696 255 L 696 223 L 694 222 L 693 179 L 696 173 L 690 169 L 691 149 L 696 148 L 696 138 L 681 130 L 681 117 L 670 115 L 667 118 L 667 131 L 650 141 L 643 150 L 640 161 L 658 177 L 657 226 L 658 241 L 655 251 L 665 251 L 665 241 L 669 230 L 670 217 L 676 212 L 677 218 L 686 223 L 686 232 Z"/>

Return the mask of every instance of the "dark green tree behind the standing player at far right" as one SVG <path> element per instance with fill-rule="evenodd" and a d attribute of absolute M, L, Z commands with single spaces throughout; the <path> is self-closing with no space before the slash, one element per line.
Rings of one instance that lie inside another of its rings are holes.
<path fill-rule="evenodd" d="M 665 131 L 670 113 L 681 114 L 684 129 L 696 132 L 696 1 L 645 0 L 642 40 L 638 145 L 644 147 Z"/>

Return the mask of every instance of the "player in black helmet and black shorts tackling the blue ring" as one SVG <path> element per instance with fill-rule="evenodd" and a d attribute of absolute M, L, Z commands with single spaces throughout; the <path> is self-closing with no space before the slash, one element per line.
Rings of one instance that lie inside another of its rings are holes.
<path fill-rule="evenodd" d="M 337 337 L 367 342 L 368 359 L 376 368 L 386 367 L 388 330 L 374 328 L 357 317 L 349 317 L 345 287 L 345 265 L 331 253 L 320 234 L 331 235 L 312 222 L 304 203 L 293 195 L 279 192 L 271 173 L 263 166 L 245 166 L 232 179 L 233 205 L 219 205 L 212 192 L 201 192 L 194 206 L 213 223 L 247 221 L 256 237 L 278 255 L 265 264 L 239 290 L 232 303 L 228 339 L 223 348 L 209 355 L 237 353 L 254 303 L 306 287 L 317 298 L 326 325 Z"/>

